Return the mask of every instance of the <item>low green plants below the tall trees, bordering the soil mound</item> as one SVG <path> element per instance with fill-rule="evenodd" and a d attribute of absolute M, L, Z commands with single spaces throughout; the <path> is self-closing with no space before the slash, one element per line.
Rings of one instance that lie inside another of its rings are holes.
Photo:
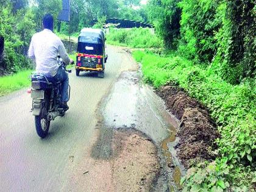
<path fill-rule="evenodd" d="M 173 53 L 160 57 L 134 51 L 142 65 L 144 80 L 159 88 L 171 83 L 201 101 L 218 124 L 221 138 L 215 162 L 191 168 L 182 180 L 184 191 L 253 191 L 256 180 L 256 81 L 247 79 L 231 85 L 212 66 L 197 65 Z M 199 177 L 203 176 L 203 177 Z M 253 184 L 254 183 L 254 184 Z M 200 189 L 200 190 L 199 190 Z"/>

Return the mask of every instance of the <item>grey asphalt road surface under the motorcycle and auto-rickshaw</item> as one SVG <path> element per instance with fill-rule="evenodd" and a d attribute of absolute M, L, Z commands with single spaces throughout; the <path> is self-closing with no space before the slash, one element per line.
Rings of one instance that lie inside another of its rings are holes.
<path fill-rule="evenodd" d="M 26 90 L 0 98 L 0 191 L 65 191 L 70 162 L 82 160 L 97 137 L 99 102 L 122 71 L 137 67 L 121 48 L 107 46 L 107 54 L 104 79 L 93 73 L 76 77 L 74 69 L 69 74 L 69 110 L 51 122 L 47 138 L 35 132 Z"/>

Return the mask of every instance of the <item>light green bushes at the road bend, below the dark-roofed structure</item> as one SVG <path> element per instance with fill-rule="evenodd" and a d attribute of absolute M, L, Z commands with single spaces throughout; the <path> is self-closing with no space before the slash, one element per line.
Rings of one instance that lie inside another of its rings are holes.
<path fill-rule="evenodd" d="M 130 46 L 132 48 L 162 48 L 163 41 L 151 29 L 114 29 L 107 35 L 107 43 Z"/>

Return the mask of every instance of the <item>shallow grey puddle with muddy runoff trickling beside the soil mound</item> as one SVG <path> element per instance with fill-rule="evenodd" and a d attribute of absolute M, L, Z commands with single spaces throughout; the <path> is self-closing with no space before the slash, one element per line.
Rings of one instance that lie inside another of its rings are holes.
<path fill-rule="evenodd" d="M 154 141 L 161 166 L 160 174 L 154 183 L 154 191 L 180 190 L 180 177 L 185 174 L 185 168 L 179 162 L 174 149 L 179 141 L 176 137 L 179 121 L 167 112 L 164 102 L 154 90 L 140 82 L 138 72 L 126 71 L 121 74 L 103 103 L 102 115 L 104 132 L 112 128 L 133 128 L 145 133 Z M 109 144 L 104 146 L 101 148 L 99 144 L 101 150 L 111 151 L 105 149 Z"/>

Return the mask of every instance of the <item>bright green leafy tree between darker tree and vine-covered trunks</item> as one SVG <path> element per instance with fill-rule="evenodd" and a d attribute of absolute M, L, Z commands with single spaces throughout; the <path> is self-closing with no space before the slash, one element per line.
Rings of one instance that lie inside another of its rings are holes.
<path fill-rule="evenodd" d="M 212 62 L 217 51 L 215 32 L 220 22 L 215 20 L 217 1 L 214 0 L 183 0 L 179 2 L 182 9 L 182 44 L 189 48 L 183 51 L 184 55 L 194 55 L 202 62 Z"/>

